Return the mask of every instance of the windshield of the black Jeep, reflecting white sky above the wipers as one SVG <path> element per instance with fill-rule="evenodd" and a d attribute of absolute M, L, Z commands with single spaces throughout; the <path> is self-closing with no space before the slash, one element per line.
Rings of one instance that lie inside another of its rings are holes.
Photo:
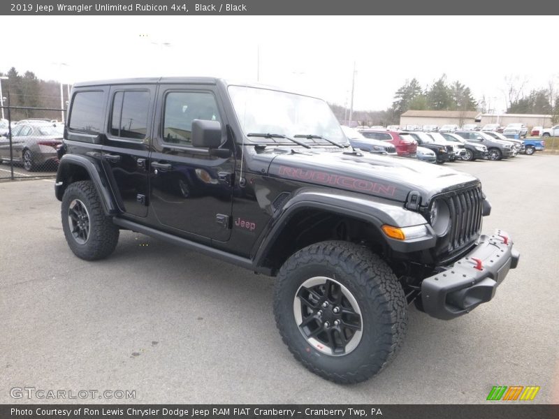
<path fill-rule="evenodd" d="M 229 86 L 228 91 L 245 135 L 273 133 L 291 138 L 295 135 L 316 135 L 347 144 L 342 128 L 330 107 L 320 99 L 245 86 Z M 263 140 L 254 137 L 250 139 Z M 281 141 L 281 138 L 271 140 L 277 142 Z M 321 138 L 301 140 L 310 144 L 327 143 Z"/>

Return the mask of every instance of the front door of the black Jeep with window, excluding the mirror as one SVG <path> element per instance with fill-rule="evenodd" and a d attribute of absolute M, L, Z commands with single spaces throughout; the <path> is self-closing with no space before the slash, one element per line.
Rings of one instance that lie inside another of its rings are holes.
<path fill-rule="evenodd" d="M 194 119 L 222 124 L 222 147 L 233 149 L 215 86 L 161 84 L 150 154 L 150 211 L 171 233 L 228 240 L 233 203 L 233 152 L 226 157 L 192 147 Z"/>

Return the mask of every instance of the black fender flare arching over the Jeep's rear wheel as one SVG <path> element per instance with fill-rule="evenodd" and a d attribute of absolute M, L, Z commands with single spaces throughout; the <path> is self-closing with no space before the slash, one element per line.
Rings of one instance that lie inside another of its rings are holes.
<path fill-rule="evenodd" d="M 57 181 L 55 184 L 55 195 L 58 200 L 62 200 L 64 191 L 68 187 L 67 179 L 71 175 L 72 166 L 80 166 L 87 171 L 89 179 L 92 180 L 97 194 L 101 199 L 103 211 L 106 215 L 119 214 L 119 209 L 112 194 L 108 179 L 103 172 L 103 168 L 99 165 L 96 159 L 89 156 L 82 156 L 80 154 L 64 154 L 60 159 L 57 171 Z"/>

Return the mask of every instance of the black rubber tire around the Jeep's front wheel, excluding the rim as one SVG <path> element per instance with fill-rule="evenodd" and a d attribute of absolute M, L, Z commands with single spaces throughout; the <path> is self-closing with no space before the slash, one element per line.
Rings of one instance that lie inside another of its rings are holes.
<path fill-rule="evenodd" d="M 322 353 L 296 323 L 296 293 L 314 277 L 335 279 L 361 309 L 361 340 L 345 355 Z M 286 260 L 275 281 L 274 313 L 293 356 L 311 372 L 336 383 L 358 383 L 380 372 L 402 345 L 407 328 L 406 298 L 391 268 L 370 249 L 349 242 L 312 244 Z"/>

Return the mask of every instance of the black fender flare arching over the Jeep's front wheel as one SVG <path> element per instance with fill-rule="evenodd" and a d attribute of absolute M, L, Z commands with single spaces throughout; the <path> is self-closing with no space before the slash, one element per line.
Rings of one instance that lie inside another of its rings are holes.
<path fill-rule="evenodd" d="M 309 208 L 340 214 L 340 216 L 350 216 L 372 224 L 379 231 L 384 224 L 395 227 L 409 227 L 419 224 L 428 226 L 426 219 L 421 214 L 406 210 L 403 203 L 348 191 L 300 189 L 273 216 L 267 228 L 261 233 L 261 239 L 257 241 L 256 247 L 253 249 L 254 265 L 257 269 L 263 267 L 266 256 L 293 216 L 300 210 L 308 210 Z M 384 234 L 382 236 L 386 240 L 386 244 L 394 251 L 417 251 L 435 245 L 436 237 L 430 226 L 428 226 L 428 232 L 430 234 L 425 238 L 405 241 L 394 240 Z"/>

